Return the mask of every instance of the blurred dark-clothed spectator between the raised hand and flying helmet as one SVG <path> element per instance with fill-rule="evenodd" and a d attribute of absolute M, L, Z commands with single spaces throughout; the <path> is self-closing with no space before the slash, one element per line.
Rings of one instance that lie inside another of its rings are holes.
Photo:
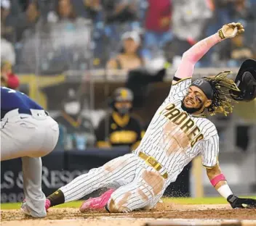
<path fill-rule="evenodd" d="M 219 51 L 220 60 L 228 62 L 229 67 L 239 67 L 245 59 L 253 58 L 254 53 L 244 42 L 244 35 L 238 35 L 226 43 Z"/>

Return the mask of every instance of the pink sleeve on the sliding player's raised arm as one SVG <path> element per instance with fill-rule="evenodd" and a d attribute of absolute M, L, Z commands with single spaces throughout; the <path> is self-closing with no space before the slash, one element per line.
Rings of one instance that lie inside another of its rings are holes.
<path fill-rule="evenodd" d="M 215 44 L 221 41 L 221 38 L 217 33 L 211 35 L 208 38 L 204 38 L 195 45 L 185 51 L 183 58 L 181 59 L 180 65 L 175 73 L 176 78 L 190 78 L 193 75 L 193 68 L 196 62 L 204 56 Z"/>

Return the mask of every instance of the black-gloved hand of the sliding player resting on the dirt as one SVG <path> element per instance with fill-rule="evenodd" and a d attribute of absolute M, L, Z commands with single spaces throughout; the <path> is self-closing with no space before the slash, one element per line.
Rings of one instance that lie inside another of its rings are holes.
<path fill-rule="evenodd" d="M 227 198 L 233 209 L 256 209 L 256 199 L 253 198 L 238 198 L 230 195 Z"/>

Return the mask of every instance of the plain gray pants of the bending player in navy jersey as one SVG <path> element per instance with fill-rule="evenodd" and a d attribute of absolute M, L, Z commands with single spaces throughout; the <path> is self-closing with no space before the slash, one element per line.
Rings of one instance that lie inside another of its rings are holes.
<path fill-rule="evenodd" d="M 33 217 L 45 217 L 45 196 L 41 191 L 41 156 L 49 154 L 57 143 L 57 122 L 44 111 L 20 117 L 17 110 L 1 120 L 1 161 L 22 158 L 25 205 Z"/>

